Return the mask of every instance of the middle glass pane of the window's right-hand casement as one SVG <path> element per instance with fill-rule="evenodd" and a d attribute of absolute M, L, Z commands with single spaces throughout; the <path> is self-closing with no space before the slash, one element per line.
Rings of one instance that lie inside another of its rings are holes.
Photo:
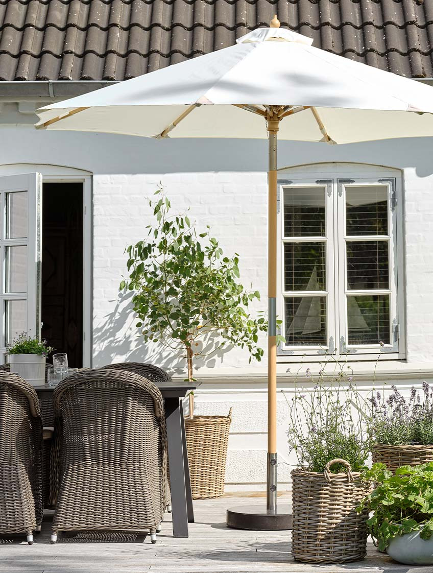
<path fill-rule="evenodd" d="M 348 241 L 346 248 L 348 289 L 389 288 L 388 241 Z"/>

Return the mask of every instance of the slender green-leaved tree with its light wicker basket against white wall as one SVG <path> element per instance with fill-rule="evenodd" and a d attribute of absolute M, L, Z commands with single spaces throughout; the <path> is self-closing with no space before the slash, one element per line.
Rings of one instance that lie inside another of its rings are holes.
<path fill-rule="evenodd" d="M 258 333 L 267 330 L 267 321 L 248 311 L 259 293 L 239 283 L 238 255 L 225 257 L 210 227 L 197 234 L 187 215 L 171 215 L 162 187 L 156 195 L 149 201 L 156 222 L 148 225 L 147 238 L 128 246 L 129 278 L 120 284 L 133 292 L 144 342 L 182 355 L 191 381 L 196 361 L 206 363 L 225 347 L 246 348 L 250 361 L 261 360 Z M 223 494 L 230 421 L 231 410 L 228 416 L 195 416 L 190 395 L 185 423 L 195 499 Z"/>

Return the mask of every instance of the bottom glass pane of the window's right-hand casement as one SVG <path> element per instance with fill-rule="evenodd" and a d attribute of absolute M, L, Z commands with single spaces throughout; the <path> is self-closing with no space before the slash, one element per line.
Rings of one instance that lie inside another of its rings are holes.
<path fill-rule="evenodd" d="M 389 344 L 389 295 L 347 297 L 348 344 Z"/>

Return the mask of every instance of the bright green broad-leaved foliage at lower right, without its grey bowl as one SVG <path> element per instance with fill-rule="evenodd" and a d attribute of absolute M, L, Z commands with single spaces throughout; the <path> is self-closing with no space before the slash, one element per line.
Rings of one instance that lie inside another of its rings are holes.
<path fill-rule="evenodd" d="M 373 515 L 367 521 L 379 550 L 384 551 L 396 535 L 421 529 L 420 537 L 433 533 L 433 462 L 401 466 L 392 474 L 384 464 L 365 470 L 364 478 L 377 487 L 361 502 Z"/>

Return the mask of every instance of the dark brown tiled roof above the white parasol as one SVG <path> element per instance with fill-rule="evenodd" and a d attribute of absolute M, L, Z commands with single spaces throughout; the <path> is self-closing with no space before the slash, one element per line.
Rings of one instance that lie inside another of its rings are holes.
<path fill-rule="evenodd" d="M 278 13 L 314 46 L 433 77 L 433 0 L 0 0 L 0 80 L 123 80 L 225 48 Z"/>

